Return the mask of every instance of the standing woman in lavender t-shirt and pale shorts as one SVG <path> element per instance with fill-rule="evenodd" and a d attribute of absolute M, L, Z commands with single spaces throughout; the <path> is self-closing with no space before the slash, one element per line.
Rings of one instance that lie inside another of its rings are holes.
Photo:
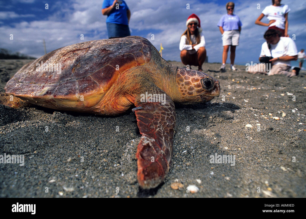
<path fill-rule="evenodd" d="M 234 12 L 235 4 L 228 2 L 226 4 L 227 14 L 223 15 L 218 22 L 219 30 L 222 34 L 222 65 L 220 70 L 225 71 L 225 63 L 227 59 L 227 53 L 230 48 L 230 68 L 237 70 L 234 66 L 236 46 L 239 44 L 239 37 L 241 32 L 242 23 Z"/>

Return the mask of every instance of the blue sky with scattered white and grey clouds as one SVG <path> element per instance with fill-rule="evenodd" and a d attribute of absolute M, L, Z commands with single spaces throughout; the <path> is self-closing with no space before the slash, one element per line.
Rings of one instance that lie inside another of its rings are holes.
<path fill-rule="evenodd" d="M 131 10 L 131 35 L 150 40 L 159 50 L 164 48 L 163 58 L 180 61 L 179 42 L 186 29 L 188 16 L 200 17 L 206 41 L 209 62 L 221 62 L 222 40 L 217 27 L 218 20 L 226 13 L 228 1 L 215 0 L 126 0 Z M 45 9 L 48 3 L 49 9 Z M 97 0 L 9 0 L 0 1 L 0 48 L 21 52 L 39 58 L 47 52 L 89 40 L 107 39 L 106 16 L 101 13 L 103 1 Z M 236 50 L 236 63 L 258 61 L 263 33 L 266 27 L 255 25 L 256 18 L 271 0 L 234 1 L 234 13 L 243 24 L 240 44 Z M 186 9 L 189 4 L 190 9 Z M 259 5 L 258 5 L 259 4 Z M 283 0 L 289 5 L 289 35 L 295 34 L 298 50 L 306 49 L 306 1 Z M 257 9 L 260 6 L 260 9 Z M 267 23 L 267 18 L 263 18 Z M 10 35 L 13 34 L 13 40 Z M 80 35 L 84 35 L 84 40 Z M 151 40 L 154 34 L 154 40 Z M 229 62 L 229 58 L 227 63 Z"/>

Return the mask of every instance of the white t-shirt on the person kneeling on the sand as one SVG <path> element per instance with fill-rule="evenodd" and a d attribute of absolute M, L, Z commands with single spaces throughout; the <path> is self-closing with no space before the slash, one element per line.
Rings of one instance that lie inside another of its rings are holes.
<path fill-rule="evenodd" d="M 268 43 L 264 42 L 261 46 L 261 53 L 259 57 L 262 56 L 272 56 L 273 58 L 278 58 L 282 56 L 295 56 L 297 55 L 297 46 L 295 45 L 293 39 L 290 37 L 280 37 L 278 43 L 270 44 L 271 48 L 269 49 Z M 271 53 L 270 53 L 271 51 Z M 277 60 L 274 61 L 274 65 L 290 65 L 290 61 Z"/>

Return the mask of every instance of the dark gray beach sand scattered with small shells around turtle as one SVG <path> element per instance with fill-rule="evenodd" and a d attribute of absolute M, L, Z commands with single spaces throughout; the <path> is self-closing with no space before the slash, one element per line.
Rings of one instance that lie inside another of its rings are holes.
<path fill-rule="evenodd" d="M 0 91 L 28 61 L 0 60 Z M 24 166 L 0 164 L 0 197 L 306 197 L 306 72 L 289 79 L 219 67 L 203 65 L 220 81 L 220 97 L 176 105 L 173 165 L 151 190 L 137 183 L 140 133 L 131 111 L 102 117 L 0 105 L 0 155 L 25 157 Z M 235 155 L 235 165 L 210 163 L 215 153 Z M 174 182 L 183 188 L 172 189 Z M 187 193 L 188 185 L 199 191 Z"/>

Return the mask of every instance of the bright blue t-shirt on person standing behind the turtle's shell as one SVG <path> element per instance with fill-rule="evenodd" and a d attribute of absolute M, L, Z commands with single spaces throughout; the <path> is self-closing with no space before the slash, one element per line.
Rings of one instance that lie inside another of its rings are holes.
<path fill-rule="evenodd" d="M 109 6 L 113 5 L 113 2 L 114 0 L 104 0 L 102 9 L 108 8 Z M 116 7 L 119 7 L 119 9 L 116 9 Z M 128 21 L 128 16 L 126 14 L 126 10 L 129 10 L 129 8 L 126 5 L 125 1 L 122 0 L 122 4 L 115 6 L 115 8 L 112 9 L 110 13 L 107 15 L 106 22 L 128 25 L 129 21 Z"/>

